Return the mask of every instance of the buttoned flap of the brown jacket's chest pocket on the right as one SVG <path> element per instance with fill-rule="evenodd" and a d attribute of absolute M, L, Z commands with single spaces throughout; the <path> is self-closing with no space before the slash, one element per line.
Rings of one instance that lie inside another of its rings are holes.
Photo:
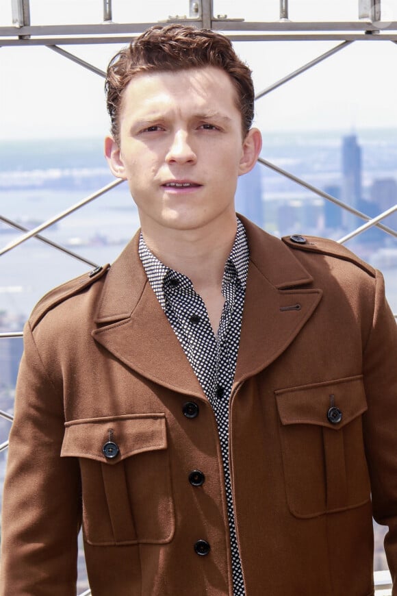
<path fill-rule="evenodd" d="M 314 424 L 339 430 L 368 409 L 362 375 L 279 389 L 274 393 L 283 425 Z M 342 419 L 336 423 L 327 417 L 332 406 L 342 413 Z"/>

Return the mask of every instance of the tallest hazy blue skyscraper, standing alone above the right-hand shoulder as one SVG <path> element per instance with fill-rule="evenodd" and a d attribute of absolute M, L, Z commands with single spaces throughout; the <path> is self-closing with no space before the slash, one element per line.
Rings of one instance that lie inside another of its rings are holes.
<path fill-rule="evenodd" d="M 346 205 L 358 208 L 361 201 L 361 147 L 357 136 L 350 134 L 342 138 L 342 195 L 341 199 Z M 344 212 L 343 223 L 350 229 L 355 229 L 357 218 Z"/>

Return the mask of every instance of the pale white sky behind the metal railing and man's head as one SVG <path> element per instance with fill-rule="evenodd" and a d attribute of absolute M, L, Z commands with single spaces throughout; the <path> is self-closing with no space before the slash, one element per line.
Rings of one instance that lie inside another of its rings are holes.
<path fill-rule="evenodd" d="M 31 0 L 31 24 L 99 23 L 102 5 L 103 0 Z M 356 21 L 358 16 L 358 0 L 290 0 L 289 5 L 293 21 Z M 188 6 L 188 0 L 113 0 L 113 20 L 157 21 L 186 14 Z M 384 0 L 382 10 L 384 21 L 397 21 L 395 0 Z M 214 14 L 277 21 L 279 0 L 214 0 Z M 11 25 L 11 0 L 0 3 L 0 27 L 4 25 Z M 236 42 L 235 49 L 251 66 L 260 92 L 338 43 Z M 65 49 L 105 70 L 120 47 Z M 397 128 L 396 66 L 396 43 L 355 42 L 259 99 L 255 125 L 263 132 Z M 0 81 L 0 142 L 108 132 L 103 79 L 46 47 L 1 47 Z"/>

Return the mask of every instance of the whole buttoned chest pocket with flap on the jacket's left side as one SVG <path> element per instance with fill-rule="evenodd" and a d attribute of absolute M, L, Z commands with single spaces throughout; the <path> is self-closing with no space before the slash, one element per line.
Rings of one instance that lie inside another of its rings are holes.
<path fill-rule="evenodd" d="M 175 514 L 164 414 L 68 422 L 61 456 L 79 458 L 88 543 L 170 542 Z"/>

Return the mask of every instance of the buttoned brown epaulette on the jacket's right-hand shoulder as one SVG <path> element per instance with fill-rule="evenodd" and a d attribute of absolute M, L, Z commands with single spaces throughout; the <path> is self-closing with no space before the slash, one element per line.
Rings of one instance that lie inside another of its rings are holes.
<path fill-rule="evenodd" d="M 359 266 L 363 271 L 375 277 L 376 271 L 374 267 L 360 259 L 355 253 L 344 247 L 335 240 L 329 238 L 318 238 L 318 236 L 300 236 L 300 234 L 292 234 L 292 236 L 284 236 L 281 238 L 283 243 L 292 249 L 306 251 L 309 253 L 318 253 L 329 255 Z"/>

